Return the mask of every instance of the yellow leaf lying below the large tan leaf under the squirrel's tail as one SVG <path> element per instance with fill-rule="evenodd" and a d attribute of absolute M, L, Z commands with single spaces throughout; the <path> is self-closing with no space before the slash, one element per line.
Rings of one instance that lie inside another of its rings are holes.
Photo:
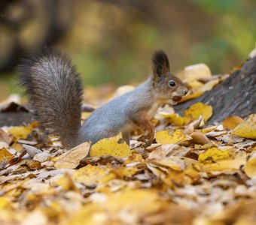
<path fill-rule="evenodd" d="M 78 169 L 73 173 L 75 181 L 85 185 L 96 185 L 99 183 L 107 183 L 115 178 L 114 174 L 108 174 L 108 169 L 100 166 L 87 165 Z"/>

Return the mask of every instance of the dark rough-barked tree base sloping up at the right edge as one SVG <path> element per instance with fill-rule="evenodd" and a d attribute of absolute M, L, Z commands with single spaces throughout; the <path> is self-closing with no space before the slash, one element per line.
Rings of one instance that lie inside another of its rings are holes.
<path fill-rule="evenodd" d="M 211 91 L 175 106 L 175 112 L 182 115 L 184 110 L 197 102 L 212 106 L 213 115 L 208 124 L 223 121 L 229 115 L 245 118 L 256 113 L 256 56 L 249 58 L 239 71 L 233 72 Z"/>

